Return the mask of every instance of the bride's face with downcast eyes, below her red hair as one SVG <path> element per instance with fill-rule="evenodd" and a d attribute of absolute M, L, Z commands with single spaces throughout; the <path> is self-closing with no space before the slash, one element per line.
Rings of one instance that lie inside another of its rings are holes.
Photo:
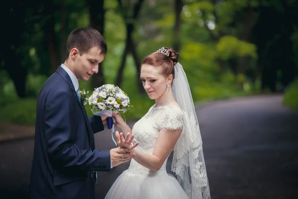
<path fill-rule="evenodd" d="M 160 74 L 160 69 L 148 64 L 142 65 L 141 80 L 143 87 L 151 100 L 158 99 L 165 95 L 167 78 Z"/>

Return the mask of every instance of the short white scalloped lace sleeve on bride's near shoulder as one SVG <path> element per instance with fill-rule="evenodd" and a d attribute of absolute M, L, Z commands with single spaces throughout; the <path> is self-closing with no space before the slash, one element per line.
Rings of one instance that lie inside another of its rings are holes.
<path fill-rule="evenodd" d="M 154 120 L 159 130 L 176 130 L 183 127 L 183 112 L 178 107 L 167 107 L 155 115 Z"/>

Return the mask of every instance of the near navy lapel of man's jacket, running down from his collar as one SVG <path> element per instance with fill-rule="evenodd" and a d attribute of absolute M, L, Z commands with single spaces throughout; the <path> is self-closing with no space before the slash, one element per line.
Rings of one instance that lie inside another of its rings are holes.
<path fill-rule="evenodd" d="M 77 100 L 77 103 L 78 103 L 81 111 L 83 112 L 84 120 L 85 120 L 85 124 L 86 124 L 86 129 L 87 129 L 87 136 L 88 136 L 88 140 L 89 140 L 89 145 L 91 146 L 90 140 L 91 140 L 91 133 L 93 134 L 93 132 L 92 132 L 92 129 L 91 129 L 91 126 L 90 126 L 90 122 L 89 122 L 85 107 L 83 106 L 82 102 L 79 102 L 78 97 L 76 95 L 76 92 L 74 90 L 74 84 L 73 84 L 70 76 L 68 75 L 68 73 L 61 66 L 58 67 L 56 72 L 66 81 L 66 83 L 72 89 L 72 91 L 74 93 L 74 97 Z M 93 147 L 93 146 L 91 146 L 91 147 Z"/>

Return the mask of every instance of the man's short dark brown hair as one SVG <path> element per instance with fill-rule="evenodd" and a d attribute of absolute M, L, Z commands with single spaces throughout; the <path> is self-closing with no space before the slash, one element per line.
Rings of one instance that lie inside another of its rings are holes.
<path fill-rule="evenodd" d="M 98 47 L 100 54 L 107 53 L 107 43 L 102 35 L 93 28 L 76 28 L 74 29 L 67 40 L 66 59 L 69 58 L 73 48 L 77 48 L 80 55 L 88 52 L 92 47 Z"/>

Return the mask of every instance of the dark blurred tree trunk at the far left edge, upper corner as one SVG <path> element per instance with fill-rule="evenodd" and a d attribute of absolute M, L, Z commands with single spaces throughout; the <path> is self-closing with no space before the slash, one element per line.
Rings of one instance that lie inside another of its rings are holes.
<path fill-rule="evenodd" d="M 9 18 L 9 20 L 3 20 L 2 23 L 6 30 L 1 31 L 1 37 L 5 39 L 1 43 L 0 64 L 7 71 L 20 98 L 26 97 L 26 78 L 28 74 L 28 68 L 22 62 L 22 52 L 18 48 L 26 31 L 25 20 L 19 20 L 26 16 L 23 6 L 22 1 L 12 0 L 2 5 L 1 10 L 1 18 Z"/>

